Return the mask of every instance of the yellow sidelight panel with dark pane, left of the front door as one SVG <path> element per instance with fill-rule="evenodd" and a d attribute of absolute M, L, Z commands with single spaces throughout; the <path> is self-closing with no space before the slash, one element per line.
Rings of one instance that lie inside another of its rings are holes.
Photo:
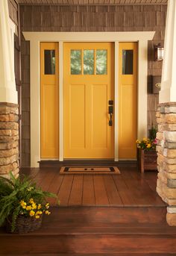
<path fill-rule="evenodd" d="M 41 158 L 58 158 L 58 43 L 40 43 L 40 78 Z"/>

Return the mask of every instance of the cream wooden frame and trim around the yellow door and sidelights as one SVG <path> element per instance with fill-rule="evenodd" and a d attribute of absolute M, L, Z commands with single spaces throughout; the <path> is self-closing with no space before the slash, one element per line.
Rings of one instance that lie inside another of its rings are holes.
<path fill-rule="evenodd" d="M 147 72 L 148 40 L 155 31 L 128 32 L 23 32 L 30 41 L 30 81 L 31 81 L 31 167 L 38 167 L 40 160 L 40 42 L 59 43 L 59 127 L 60 157 L 63 161 L 63 43 L 64 42 L 111 42 L 115 45 L 115 70 L 118 69 L 120 42 L 137 42 L 137 137 L 147 135 Z M 114 160 L 119 160 L 118 152 L 118 72 L 114 75 Z"/>

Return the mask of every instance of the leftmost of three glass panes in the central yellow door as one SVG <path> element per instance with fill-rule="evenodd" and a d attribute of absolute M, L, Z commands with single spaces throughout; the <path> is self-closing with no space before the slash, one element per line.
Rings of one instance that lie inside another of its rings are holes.
<path fill-rule="evenodd" d="M 81 74 L 81 50 L 71 50 L 71 75 Z"/>

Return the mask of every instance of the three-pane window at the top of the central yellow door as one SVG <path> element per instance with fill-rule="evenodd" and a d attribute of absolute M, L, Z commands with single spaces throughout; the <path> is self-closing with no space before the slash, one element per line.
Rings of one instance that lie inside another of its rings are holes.
<path fill-rule="evenodd" d="M 71 49 L 71 75 L 107 75 L 106 49 Z"/>

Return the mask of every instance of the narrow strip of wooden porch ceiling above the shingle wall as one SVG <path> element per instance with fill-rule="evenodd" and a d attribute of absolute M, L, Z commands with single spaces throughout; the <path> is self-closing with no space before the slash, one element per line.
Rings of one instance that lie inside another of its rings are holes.
<path fill-rule="evenodd" d="M 19 4 L 167 4 L 168 0 L 17 0 Z"/>

